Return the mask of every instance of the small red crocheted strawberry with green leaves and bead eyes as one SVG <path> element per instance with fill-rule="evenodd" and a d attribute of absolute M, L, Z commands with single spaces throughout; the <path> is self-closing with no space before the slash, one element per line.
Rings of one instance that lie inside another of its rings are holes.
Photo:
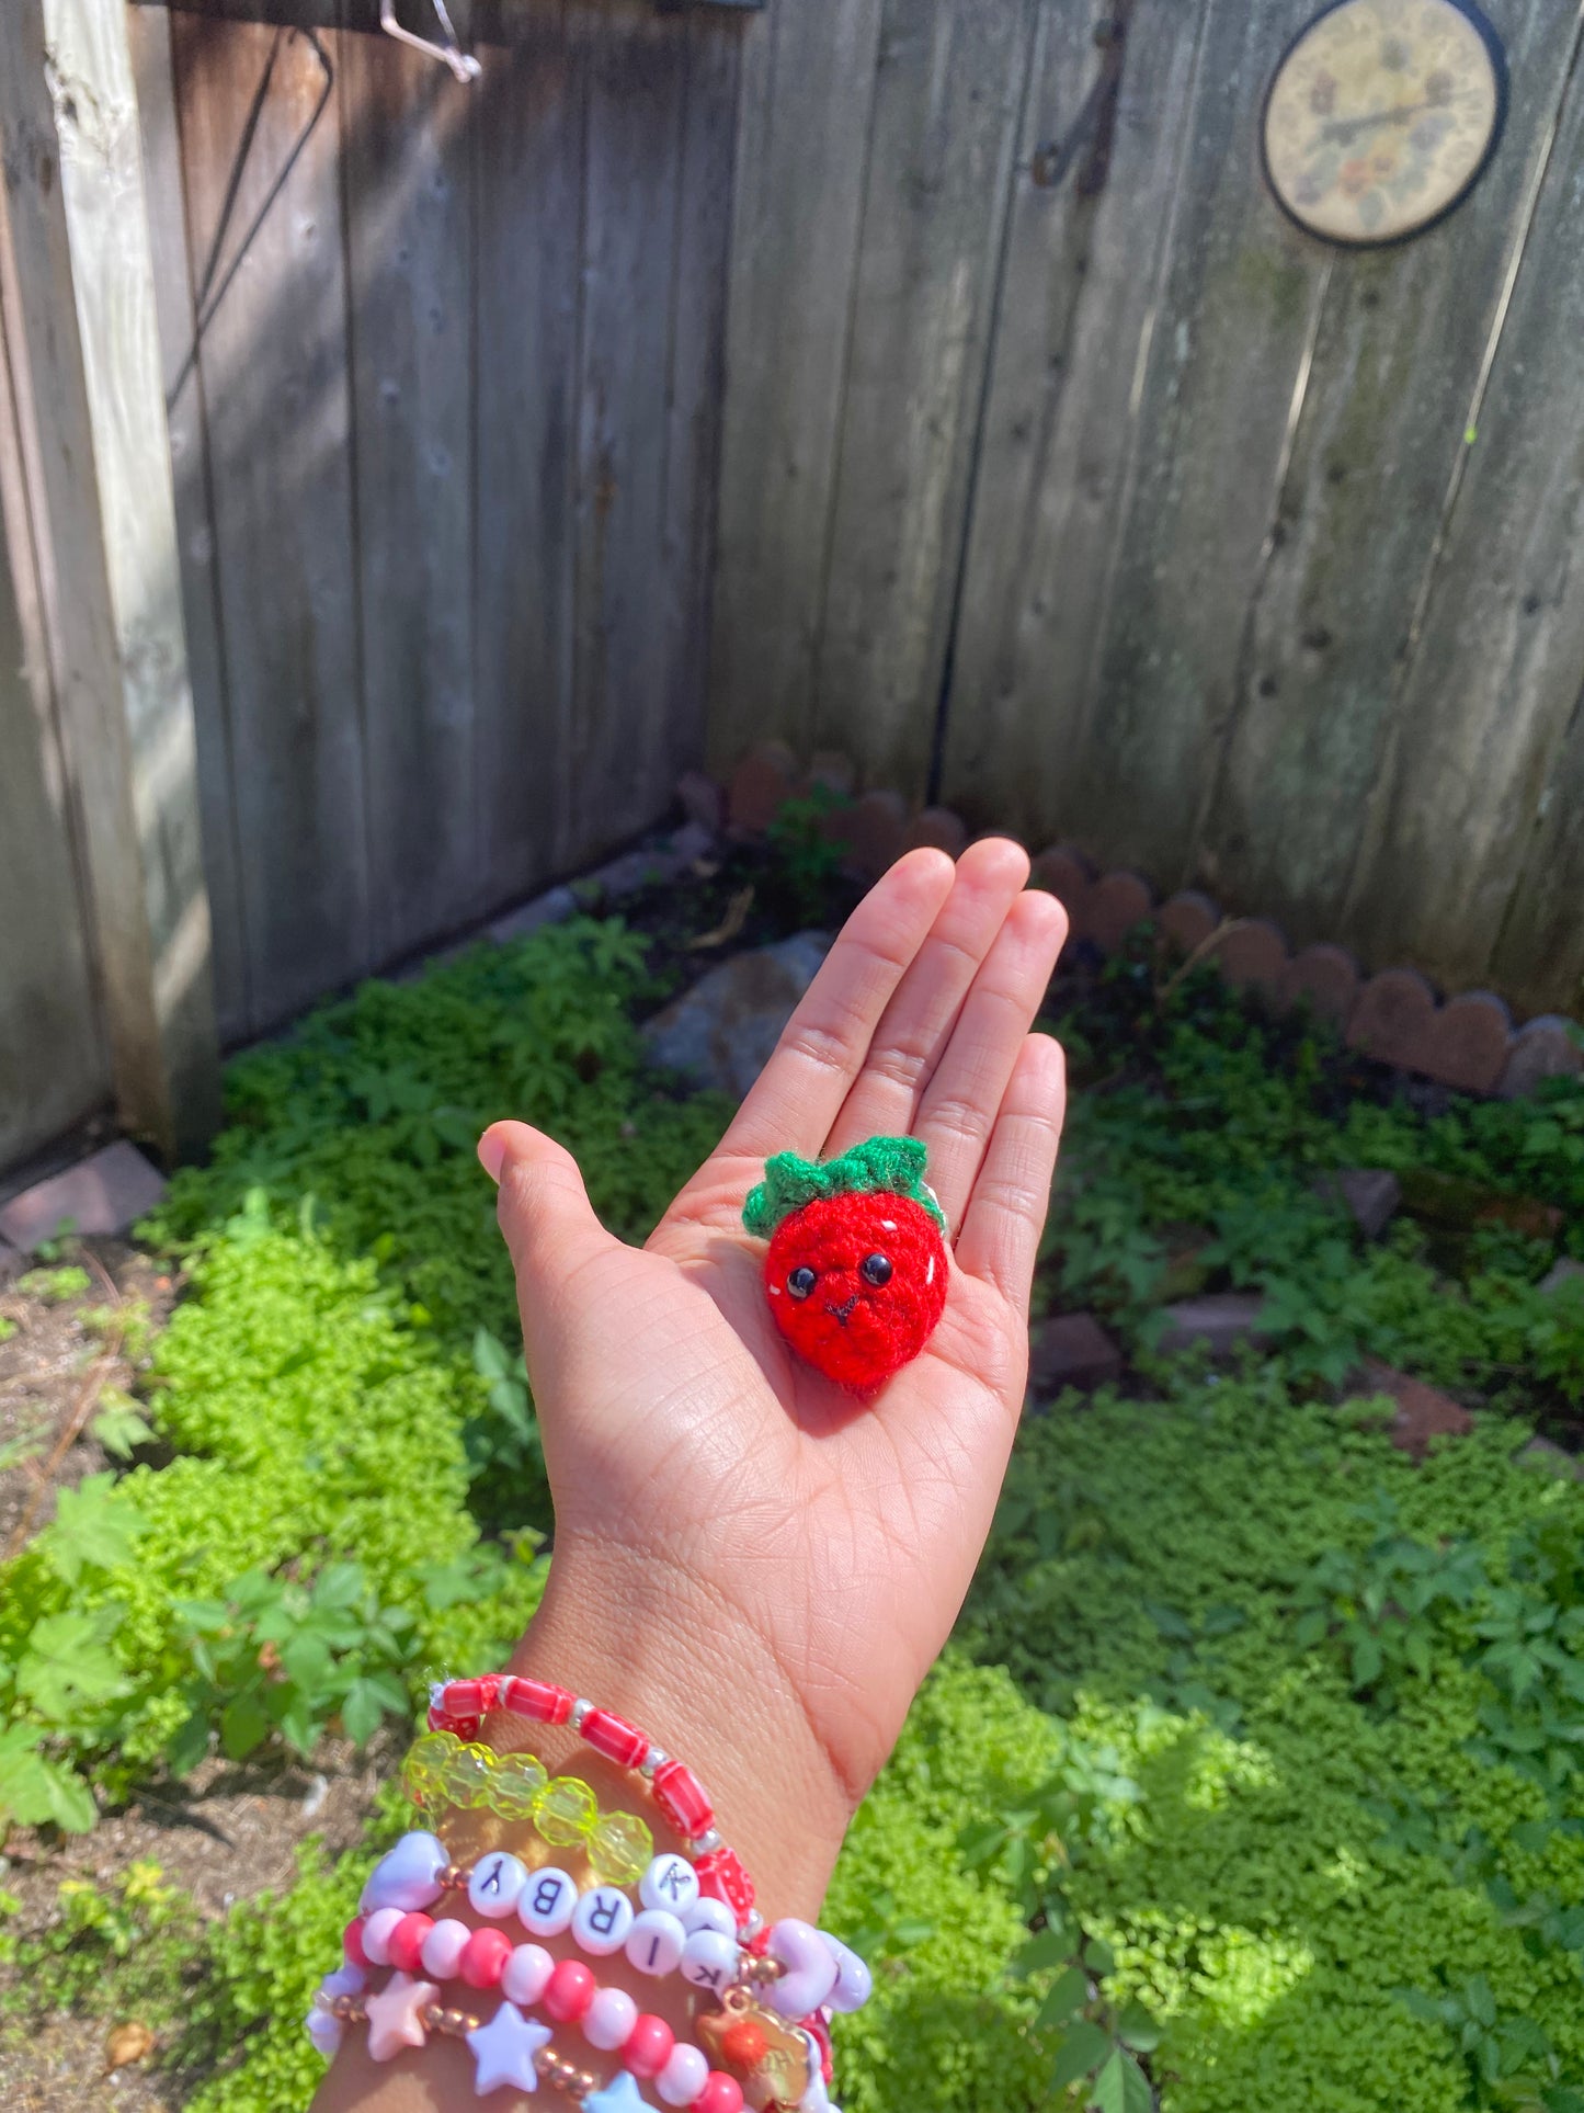
<path fill-rule="evenodd" d="M 914 1359 L 946 1304 L 946 1219 L 923 1173 L 917 1137 L 870 1137 L 824 1162 L 777 1152 L 743 1204 L 743 1226 L 771 1242 L 775 1325 L 853 1395 Z"/>

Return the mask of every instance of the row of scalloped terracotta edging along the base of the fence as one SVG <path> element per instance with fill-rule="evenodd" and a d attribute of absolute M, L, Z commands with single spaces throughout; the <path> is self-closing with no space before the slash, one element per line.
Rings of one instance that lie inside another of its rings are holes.
<path fill-rule="evenodd" d="M 697 773 L 684 782 L 689 814 L 703 803 L 705 784 L 710 780 Z M 741 759 L 724 788 L 729 833 L 760 835 L 781 801 L 809 784 L 845 792 L 853 784 L 853 767 L 847 756 L 826 750 L 805 771 L 784 742 L 762 742 Z M 885 873 L 914 845 L 934 843 L 957 856 L 969 839 L 950 807 L 908 816 L 898 792 L 864 792 L 834 809 L 826 830 L 866 877 Z M 1231 983 L 1263 989 L 1280 1006 L 1307 999 L 1335 1023 L 1350 1048 L 1459 1092 L 1512 1099 L 1546 1078 L 1584 1069 L 1571 1023 L 1561 1014 L 1542 1014 L 1514 1029 L 1493 991 L 1462 991 L 1440 1002 L 1413 968 L 1364 976 L 1343 947 L 1318 945 L 1293 953 L 1286 934 L 1267 917 L 1223 917 L 1198 890 L 1157 902 L 1143 875 L 1096 873 L 1071 843 L 1039 852 L 1033 879 L 1060 898 L 1073 938 L 1111 951 L 1134 925 L 1153 923 L 1185 955 L 1217 961 Z"/>

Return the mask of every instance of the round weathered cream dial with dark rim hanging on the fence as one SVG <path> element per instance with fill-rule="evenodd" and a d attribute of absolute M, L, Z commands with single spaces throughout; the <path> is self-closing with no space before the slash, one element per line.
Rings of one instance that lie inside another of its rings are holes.
<path fill-rule="evenodd" d="M 1459 0 L 1339 0 L 1299 32 L 1265 99 L 1282 207 L 1333 243 L 1394 243 L 1449 211 L 1502 129 L 1506 72 Z"/>

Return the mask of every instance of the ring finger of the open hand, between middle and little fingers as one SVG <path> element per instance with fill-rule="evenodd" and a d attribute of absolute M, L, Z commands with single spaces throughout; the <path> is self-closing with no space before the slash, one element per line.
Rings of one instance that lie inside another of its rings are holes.
<path fill-rule="evenodd" d="M 961 1226 L 991 1126 L 1067 938 L 1056 896 L 1018 896 L 967 993 L 919 1105 L 929 1181 L 948 1226 Z"/>

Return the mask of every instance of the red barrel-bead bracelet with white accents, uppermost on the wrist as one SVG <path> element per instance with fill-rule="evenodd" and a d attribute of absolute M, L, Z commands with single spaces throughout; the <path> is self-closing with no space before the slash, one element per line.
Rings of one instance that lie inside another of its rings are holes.
<path fill-rule="evenodd" d="M 754 1883 L 737 1853 L 716 1834 L 708 1790 L 693 1769 L 672 1760 L 648 1733 L 638 1731 L 615 1709 L 602 1709 L 587 1697 L 572 1695 L 570 1688 L 558 1688 L 547 1680 L 522 1680 L 515 1673 L 441 1680 L 429 1690 L 429 1728 L 450 1731 L 465 1741 L 477 1737 L 490 1709 L 507 1709 L 534 1724 L 570 1724 L 596 1754 L 638 1775 L 682 1838 L 703 1891 L 724 1900 L 743 1936 L 762 1929 L 762 1921 L 754 1916 Z"/>

